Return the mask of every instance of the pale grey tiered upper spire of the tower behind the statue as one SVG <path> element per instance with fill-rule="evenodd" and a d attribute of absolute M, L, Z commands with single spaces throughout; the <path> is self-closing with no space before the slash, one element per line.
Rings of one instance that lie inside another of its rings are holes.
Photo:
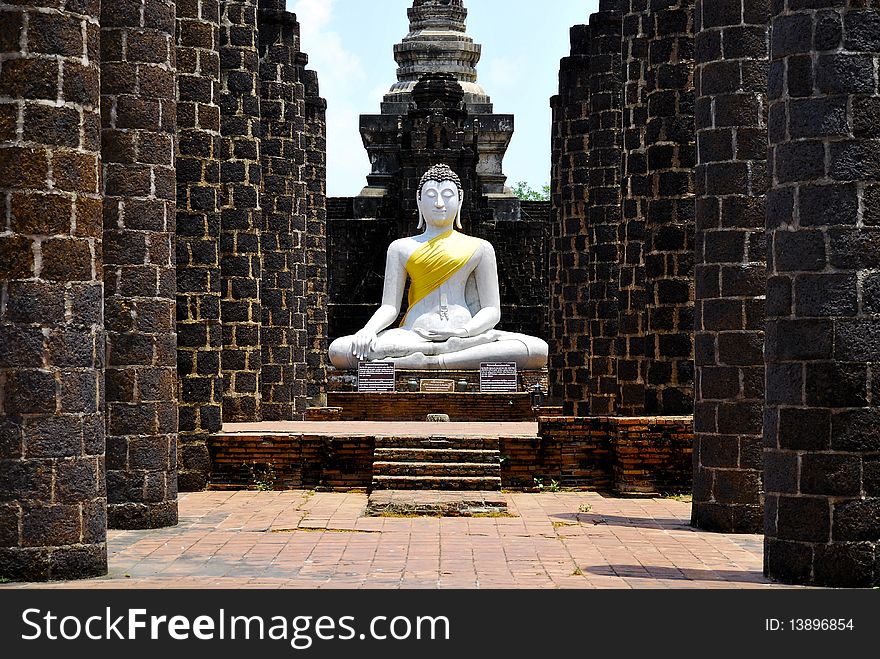
<path fill-rule="evenodd" d="M 471 111 L 492 112 L 489 97 L 477 84 L 481 46 L 467 34 L 467 13 L 462 0 L 413 0 L 407 10 L 409 34 L 394 46 L 397 82 L 385 95 L 383 114 L 396 114 L 400 104 L 408 105 L 426 73 L 451 74 Z"/>

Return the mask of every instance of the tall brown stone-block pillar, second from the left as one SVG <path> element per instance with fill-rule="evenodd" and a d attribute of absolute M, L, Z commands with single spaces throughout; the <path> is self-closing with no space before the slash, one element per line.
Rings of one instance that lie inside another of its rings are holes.
<path fill-rule="evenodd" d="M 113 528 L 177 523 L 177 129 L 171 0 L 101 7 L 107 499 Z"/>

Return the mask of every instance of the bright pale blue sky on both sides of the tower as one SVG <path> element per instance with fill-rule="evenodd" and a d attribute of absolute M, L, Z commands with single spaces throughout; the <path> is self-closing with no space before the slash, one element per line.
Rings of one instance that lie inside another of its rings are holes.
<path fill-rule="evenodd" d="M 327 99 L 327 194 L 357 195 L 370 166 L 358 131 L 362 114 L 379 114 L 397 80 L 394 44 L 406 36 L 412 0 L 287 0 L 297 15 L 302 50 Z M 504 173 L 540 190 L 550 180 L 550 97 L 568 31 L 586 23 L 598 0 L 465 0 L 468 34 L 483 47 L 478 82 L 516 132 Z"/>

